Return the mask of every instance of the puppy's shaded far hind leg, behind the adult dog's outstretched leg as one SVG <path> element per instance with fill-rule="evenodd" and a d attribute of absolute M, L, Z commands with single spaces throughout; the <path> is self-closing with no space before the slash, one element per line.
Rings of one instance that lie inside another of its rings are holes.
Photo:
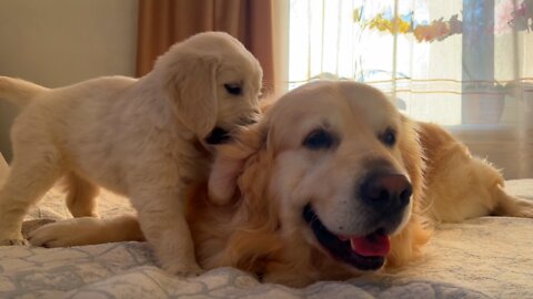
<path fill-rule="evenodd" d="M 70 173 L 66 176 L 67 207 L 74 217 L 98 217 L 97 196 L 100 188 L 91 182 Z"/>

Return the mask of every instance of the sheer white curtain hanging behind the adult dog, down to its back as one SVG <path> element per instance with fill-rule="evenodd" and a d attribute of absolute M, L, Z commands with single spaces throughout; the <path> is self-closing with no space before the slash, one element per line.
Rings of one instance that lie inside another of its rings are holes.
<path fill-rule="evenodd" d="M 289 89 L 356 80 L 533 177 L 533 0 L 290 0 Z"/>

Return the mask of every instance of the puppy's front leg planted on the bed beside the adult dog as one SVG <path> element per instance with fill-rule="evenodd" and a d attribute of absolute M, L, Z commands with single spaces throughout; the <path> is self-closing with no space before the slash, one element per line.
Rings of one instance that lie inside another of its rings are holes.
<path fill-rule="evenodd" d="M 178 189 L 137 193 L 132 203 L 142 233 L 161 267 L 175 275 L 199 275 L 191 231 L 185 220 L 184 196 Z"/>

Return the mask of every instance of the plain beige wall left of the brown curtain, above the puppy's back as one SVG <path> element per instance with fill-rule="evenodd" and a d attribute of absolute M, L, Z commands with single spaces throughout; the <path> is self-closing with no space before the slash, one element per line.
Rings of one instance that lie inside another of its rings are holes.
<path fill-rule="evenodd" d="M 137 0 L 1 0 L 0 75 L 57 87 L 134 75 Z M 16 109 L 0 101 L 0 152 L 10 161 Z"/>

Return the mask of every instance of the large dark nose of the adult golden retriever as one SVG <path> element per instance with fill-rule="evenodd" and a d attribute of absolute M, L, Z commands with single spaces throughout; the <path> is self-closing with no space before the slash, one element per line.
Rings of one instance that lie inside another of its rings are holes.
<path fill-rule="evenodd" d="M 375 173 L 361 185 L 361 198 L 379 212 L 400 212 L 409 205 L 413 188 L 402 174 Z"/>

